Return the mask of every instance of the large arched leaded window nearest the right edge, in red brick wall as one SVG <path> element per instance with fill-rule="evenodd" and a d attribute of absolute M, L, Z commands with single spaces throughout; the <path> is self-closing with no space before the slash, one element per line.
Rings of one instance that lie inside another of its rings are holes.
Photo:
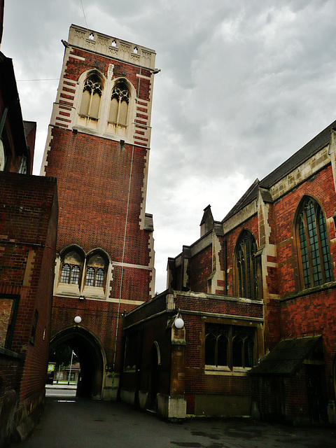
<path fill-rule="evenodd" d="M 297 240 L 300 277 L 304 288 L 332 280 L 328 234 L 323 210 L 316 200 L 307 197 L 297 216 Z"/>

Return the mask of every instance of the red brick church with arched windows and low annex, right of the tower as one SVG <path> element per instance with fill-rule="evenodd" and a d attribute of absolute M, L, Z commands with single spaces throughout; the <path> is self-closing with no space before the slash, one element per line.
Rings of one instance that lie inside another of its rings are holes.
<path fill-rule="evenodd" d="M 168 260 L 169 289 L 125 317 L 128 401 L 169 417 L 336 422 L 335 127 L 223 221 L 204 209 L 200 239 Z"/>

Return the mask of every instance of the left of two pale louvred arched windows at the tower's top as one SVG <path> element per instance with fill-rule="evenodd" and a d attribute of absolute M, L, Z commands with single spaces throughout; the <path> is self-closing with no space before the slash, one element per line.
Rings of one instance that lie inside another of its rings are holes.
<path fill-rule="evenodd" d="M 99 118 L 100 99 L 102 97 L 102 81 L 97 74 L 89 76 L 83 86 L 79 115 L 86 125 L 96 122 Z"/>

